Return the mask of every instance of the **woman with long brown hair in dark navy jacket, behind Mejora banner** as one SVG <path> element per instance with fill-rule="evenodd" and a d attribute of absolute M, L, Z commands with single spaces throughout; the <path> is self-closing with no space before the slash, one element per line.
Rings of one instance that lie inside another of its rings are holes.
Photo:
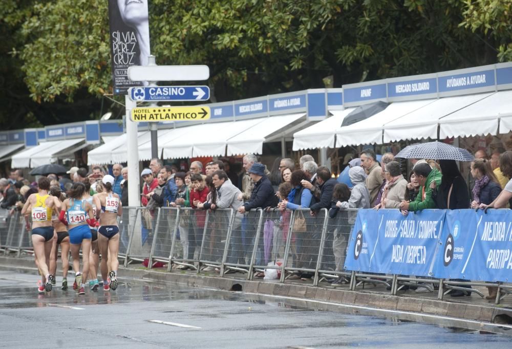
<path fill-rule="evenodd" d="M 489 205 L 501 192 L 501 186 L 496 178 L 490 161 L 485 159 L 476 159 L 471 163 L 471 175 L 475 179 L 473 187 L 472 208 L 477 208 L 480 204 Z"/>

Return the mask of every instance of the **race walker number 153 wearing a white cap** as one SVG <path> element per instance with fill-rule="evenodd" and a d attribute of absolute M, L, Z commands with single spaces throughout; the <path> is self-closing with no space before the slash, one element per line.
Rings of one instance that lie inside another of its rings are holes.
<path fill-rule="evenodd" d="M 119 260 L 117 253 L 119 252 L 119 227 L 117 226 L 117 217 L 123 213 L 119 195 L 112 192 L 114 177 L 107 174 L 102 179 L 103 191 L 94 195 L 94 203 L 96 212 L 99 214 L 100 226 L 98 228 L 98 243 L 101 251 L 101 277 L 103 278 L 103 290 L 117 289 L 117 269 L 119 268 Z M 109 270 L 109 251 L 110 251 L 110 267 Z M 105 283 L 105 280 L 108 282 Z"/>

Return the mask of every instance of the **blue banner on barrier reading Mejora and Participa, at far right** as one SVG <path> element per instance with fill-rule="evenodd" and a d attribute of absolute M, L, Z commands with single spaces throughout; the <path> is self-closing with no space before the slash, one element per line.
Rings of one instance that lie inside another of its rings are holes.
<path fill-rule="evenodd" d="M 511 210 L 446 211 L 440 244 L 435 277 L 512 280 Z"/>

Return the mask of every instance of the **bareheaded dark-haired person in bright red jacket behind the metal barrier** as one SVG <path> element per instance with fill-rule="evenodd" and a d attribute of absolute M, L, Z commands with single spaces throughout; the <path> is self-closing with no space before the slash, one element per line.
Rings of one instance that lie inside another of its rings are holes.
<path fill-rule="evenodd" d="M 190 191 L 190 206 L 197 209 L 199 203 L 206 202 L 206 196 L 208 195 L 209 188 L 205 185 L 203 176 L 200 173 L 194 173 L 190 176 L 190 182 L 192 183 L 192 191 Z M 196 227 L 190 229 L 188 232 L 188 259 L 194 259 L 194 251 L 196 247 L 201 248 L 201 242 L 203 241 L 203 230 L 204 221 L 206 220 L 206 211 L 195 210 L 196 216 Z M 199 253 L 199 250 L 198 250 Z"/>

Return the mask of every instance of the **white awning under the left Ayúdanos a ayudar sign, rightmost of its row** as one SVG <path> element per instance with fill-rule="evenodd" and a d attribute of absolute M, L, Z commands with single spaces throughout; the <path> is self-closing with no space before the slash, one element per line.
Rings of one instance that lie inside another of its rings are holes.
<path fill-rule="evenodd" d="M 269 137 L 305 116 L 299 113 L 263 118 L 261 122 L 227 140 L 227 155 L 262 154 L 263 143 Z"/>

